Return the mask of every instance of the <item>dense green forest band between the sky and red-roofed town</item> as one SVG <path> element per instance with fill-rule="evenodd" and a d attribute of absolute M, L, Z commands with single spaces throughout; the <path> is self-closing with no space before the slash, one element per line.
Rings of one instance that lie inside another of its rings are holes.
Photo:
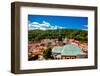
<path fill-rule="evenodd" d="M 57 29 L 57 30 L 29 30 L 28 31 L 28 40 L 34 40 L 35 42 L 40 41 L 41 39 L 56 39 L 58 35 L 61 35 L 63 38 L 67 37 L 68 39 L 75 39 L 80 42 L 88 41 L 88 31 L 86 30 L 74 30 L 74 29 Z"/>

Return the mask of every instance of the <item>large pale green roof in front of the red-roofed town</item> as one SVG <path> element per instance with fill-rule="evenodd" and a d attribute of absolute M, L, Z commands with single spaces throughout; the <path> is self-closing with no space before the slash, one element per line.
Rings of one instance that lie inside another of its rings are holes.
<path fill-rule="evenodd" d="M 74 44 L 66 44 L 64 46 L 55 46 L 52 52 L 61 53 L 61 55 L 80 55 L 82 49 Z"/>

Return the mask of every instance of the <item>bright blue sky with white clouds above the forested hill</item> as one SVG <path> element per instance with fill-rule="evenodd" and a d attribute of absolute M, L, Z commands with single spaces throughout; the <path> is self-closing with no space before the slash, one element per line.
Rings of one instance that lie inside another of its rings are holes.
<path fill-rule="evenodd" d="M 88 17 L 28 15 L 28 25 L 34 28 L 88 29 Z M 41 27 L 40 27 L 41 26 Z"/>

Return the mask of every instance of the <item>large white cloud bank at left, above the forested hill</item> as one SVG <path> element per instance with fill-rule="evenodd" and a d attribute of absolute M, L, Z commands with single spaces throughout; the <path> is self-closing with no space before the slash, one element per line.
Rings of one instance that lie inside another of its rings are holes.
<path fill-rule="evenodd" d="M 62 29 L 64 27 L 51 25 L 49 22 L 43 21 L 42 23 L 39 22 L 32 22 L 28 24 L 29 30 L 50 30 L 50 29 Z"/>

